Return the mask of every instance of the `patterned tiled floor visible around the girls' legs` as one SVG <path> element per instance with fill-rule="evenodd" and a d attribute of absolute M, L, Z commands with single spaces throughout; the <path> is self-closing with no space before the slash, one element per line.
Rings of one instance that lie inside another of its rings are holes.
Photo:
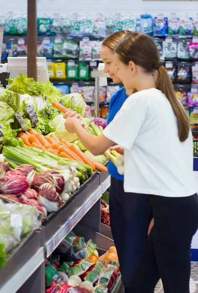
<path fill-rule="evenodd" d="M 120 293 L 124 293 L 124 289 Z M 155 293 L 164 293 L 161 281 L 158 283 Z M 191 266 L 190 293 L 198 293 L 198 263 L 192 263 Z"/>

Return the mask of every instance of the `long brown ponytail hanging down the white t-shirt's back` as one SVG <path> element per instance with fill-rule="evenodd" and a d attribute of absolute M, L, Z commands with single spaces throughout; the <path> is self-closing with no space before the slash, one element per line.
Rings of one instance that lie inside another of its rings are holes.
<path fill-rule="evenodd" d="M 179 140 L 180 142 L 185 142 L 189 135 L 190 119 L 176 97 L 171 78 L 166 72 L 166 69 L 163 66 L 159 66 L 157 72 L 156 86 L 169 100 L 178 121 Z"/>

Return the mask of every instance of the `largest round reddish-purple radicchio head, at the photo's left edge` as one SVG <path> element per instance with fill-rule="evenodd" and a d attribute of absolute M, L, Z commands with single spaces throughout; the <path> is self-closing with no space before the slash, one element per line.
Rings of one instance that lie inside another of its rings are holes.
<path fill-rule="evenodd" d="M 20 171 L 8 171 L 0 181 L 0 193 L 20 196 L 28 187 L 28 180 Z"/>

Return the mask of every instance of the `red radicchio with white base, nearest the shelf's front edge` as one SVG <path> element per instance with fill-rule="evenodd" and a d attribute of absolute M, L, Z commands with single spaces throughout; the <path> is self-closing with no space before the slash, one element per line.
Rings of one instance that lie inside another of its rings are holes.
<path fill-rule="evenodd" d="M 38 201 L 49 212 L 58 210 L 61 205 L 59 193 L 57 193 L 56 188 L 49 183 L 44 183 L 40 186 Z"/>

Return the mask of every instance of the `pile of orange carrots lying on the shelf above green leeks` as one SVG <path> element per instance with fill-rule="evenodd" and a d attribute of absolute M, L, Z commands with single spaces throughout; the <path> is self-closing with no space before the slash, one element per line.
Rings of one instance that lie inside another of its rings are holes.
<path fill-rule="evenodd" d="M 20 132 L 18 137 L 22 138 L 24 146 L 34 146 L 42 150 L 47 150 L 55 155 L 70 160 L 75 160 L 86 165 L 89 165 L 95 171 L 96 169 L 107 172 L 107 168 L 92 158 L 86 156 L 79 148 L 69 144 L 66 140 L 59 140 L 56 135 L 43 136 L 36 130 Z"/>

